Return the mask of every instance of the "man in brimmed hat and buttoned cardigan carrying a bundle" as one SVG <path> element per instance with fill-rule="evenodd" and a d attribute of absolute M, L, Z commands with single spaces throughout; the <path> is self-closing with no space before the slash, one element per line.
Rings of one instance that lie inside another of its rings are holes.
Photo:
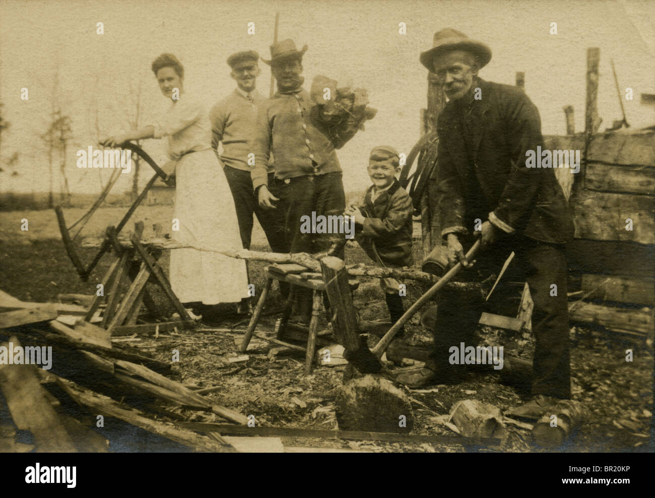
<path fill-rule="evenodd" d="M 301 217 L 343 215 L 345 194 L 335 149 L 356 133 L 348 120 L 335 122 L 322 113 L 303 88 L 303 55 L 286 39 L 271 46 L 271 65 L 278 91 L 262 107 L 255 130 L 255 166 L 252 182 L 259 205 L 281 211 L 286 220 L 287 249 L 291 253 L 317 253 L 344 234 L 301 232 Z M 270 154 L 275 158 L 274 179 L 267 175 Z M 312 219 L 314 219 L 312 217 Z M 309 291 L 307 293 L 306 291 Z M 295 312 L 299 323 L 309 322 L 311 290 L 297 289 Z"/>

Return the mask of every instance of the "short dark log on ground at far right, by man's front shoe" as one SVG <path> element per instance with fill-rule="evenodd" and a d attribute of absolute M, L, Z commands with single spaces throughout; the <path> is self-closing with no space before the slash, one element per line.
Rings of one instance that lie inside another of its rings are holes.
<path fill-rule="evenodd" d="M 552 413 L 544 415 L 534 425 L 534 444 L 542 448 L 557 448 L 564 444 L 572 432 L 587 416 L 582 404 L 572 400 L 561 400 L 553 406 Z"/>

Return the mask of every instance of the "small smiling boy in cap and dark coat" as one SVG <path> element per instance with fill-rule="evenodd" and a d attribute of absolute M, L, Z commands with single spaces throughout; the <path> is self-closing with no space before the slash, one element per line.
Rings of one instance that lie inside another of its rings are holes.
<path fill-rule="evenodd" d="M 354 217 L 355 240 L 376 264 L 387 268 L 411 265 L 413 205 L 409 194 L 400 187 L 400 157 L 393 147 L 374 147 L 369 157 L 369 177 L 373 185 L 366 191 L 363 206 L 351 205 L 345 211 Z M 391 323 L 402 317 L 400 283 L 394 278 L 380 279 Z M 402 337 L 405 328 L 398 330 Z"/>

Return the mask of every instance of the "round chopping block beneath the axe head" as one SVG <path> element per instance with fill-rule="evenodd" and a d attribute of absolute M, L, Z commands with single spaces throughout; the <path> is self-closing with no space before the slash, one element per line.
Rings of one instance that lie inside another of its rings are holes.
<path fill-rule="evenodd" d="M 409 399 L 389 380 L 372 374 L 348 381 L 335 402 L 339 429 L 407 434 L 414 427 Z"/>

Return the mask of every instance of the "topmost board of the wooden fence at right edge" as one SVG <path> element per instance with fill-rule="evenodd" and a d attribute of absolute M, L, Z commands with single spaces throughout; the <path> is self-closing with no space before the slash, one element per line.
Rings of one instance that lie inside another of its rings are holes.
<path fill-rule="evenodd" d="M 655 166 L 655 131 L 597 133 L 591 137 L 589 161 Z"/>

